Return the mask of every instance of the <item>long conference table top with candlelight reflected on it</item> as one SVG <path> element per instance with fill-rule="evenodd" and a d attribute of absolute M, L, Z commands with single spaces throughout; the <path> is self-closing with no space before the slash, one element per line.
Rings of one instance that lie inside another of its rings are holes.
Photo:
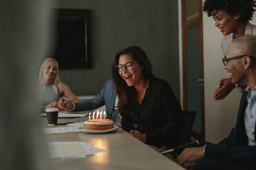
<path fill-rule="evenodd" d="M 42 118 L 47 126 L 47 119 Z M 58 119 L 58 123 L 74 123 L 87 120 L 88 117 L 73 119 Z M 56 125 L 61 127 L 65 125 Z M 51 126 L 52 127 L 52 126 Z M 48 141 L 85 141 L 94 143 L 95 147 L 105 149 L 104 152 L 87 156 L 86 158 L 52 159 L 56 169 L 104 169 L 104 170 L 143 170 L 143 169 L 184 169 L 177 163 L 162 156 L 151 147 L 140 142 L 127 132 L 118 128 L 115 132 L 106 134 L 86 134 L 84 132 L 69 132 L 47 134 Z"/>

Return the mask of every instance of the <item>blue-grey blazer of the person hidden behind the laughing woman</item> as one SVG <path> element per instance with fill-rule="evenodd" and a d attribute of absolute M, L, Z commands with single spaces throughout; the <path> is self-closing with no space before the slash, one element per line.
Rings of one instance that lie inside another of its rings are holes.
<path fill-rule="evenodd" d="M 103 88 L 100 90 L 100 93 L 98 93 L 98 95 L 96 95 L 93 99 L 74 104 L 74 111 L 94 110 L 106 105 L 107 118 L 109 119 L 116 101 L 116 90 L 113 85 L 112 80 L 107 80 Z"/>

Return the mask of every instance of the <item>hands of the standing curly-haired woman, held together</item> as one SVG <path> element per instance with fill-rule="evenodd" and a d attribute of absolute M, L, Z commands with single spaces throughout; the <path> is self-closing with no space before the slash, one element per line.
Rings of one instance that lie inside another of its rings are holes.
<path fill-rule="evenodd" d="M 235 84 L 232 83 L 231 78 L 220 80 L 217 84 L 217 90 L 213 93 L 214 100 L 224 99 L 235 88 Z"/>

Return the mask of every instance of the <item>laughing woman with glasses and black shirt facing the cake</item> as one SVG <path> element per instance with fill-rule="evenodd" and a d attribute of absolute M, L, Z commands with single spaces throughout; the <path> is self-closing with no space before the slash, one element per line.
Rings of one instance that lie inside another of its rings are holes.
<path fill-rule="evenodd" d="M 145 51 L 136 46 L 119 51 L 112 65 L 112 78 L 122 128 L 158 148 L 177 145 L 183 125 L 179 101 L 169 84 L 152 74 Z"/>

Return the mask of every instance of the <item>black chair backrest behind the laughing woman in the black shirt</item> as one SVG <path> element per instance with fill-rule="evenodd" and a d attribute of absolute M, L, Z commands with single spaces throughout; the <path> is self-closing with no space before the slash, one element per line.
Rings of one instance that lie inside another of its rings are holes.
<path fill-rule="evenodd" d="M 180 136 L 179 144 L 190 143 L 191 142 L 191 132 L 193 128 L 193 123 L 195 120 L 196 111 L 182 111 L 184 114 L 184 127 L 182 128 L 182 134 Z"/>

